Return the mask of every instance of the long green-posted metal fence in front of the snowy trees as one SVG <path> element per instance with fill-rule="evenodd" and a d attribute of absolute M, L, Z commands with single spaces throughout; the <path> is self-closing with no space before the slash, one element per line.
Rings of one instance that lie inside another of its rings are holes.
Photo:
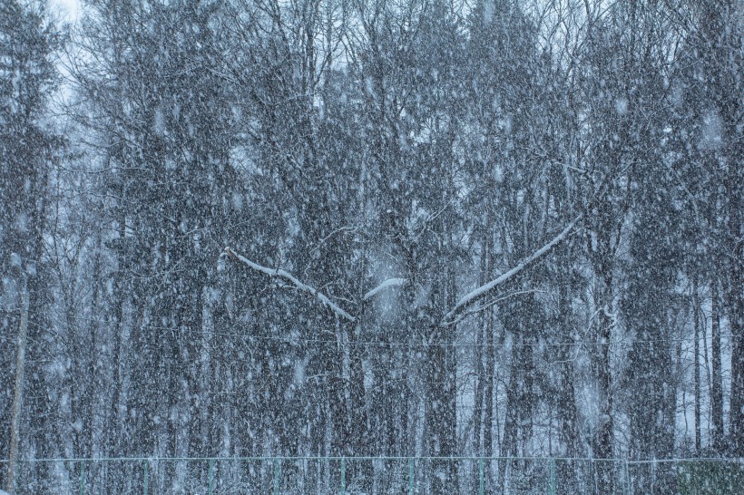
<path fill-rule="evenodd" d="M 7 461 L 3 461 L 5 464 Z M 0 466 L 6 469 L 6 464 Z M 744 459 L 661 461 L 481 457 L 38 459 L 18 462 L 17 495 L 744 493 Z"/>

